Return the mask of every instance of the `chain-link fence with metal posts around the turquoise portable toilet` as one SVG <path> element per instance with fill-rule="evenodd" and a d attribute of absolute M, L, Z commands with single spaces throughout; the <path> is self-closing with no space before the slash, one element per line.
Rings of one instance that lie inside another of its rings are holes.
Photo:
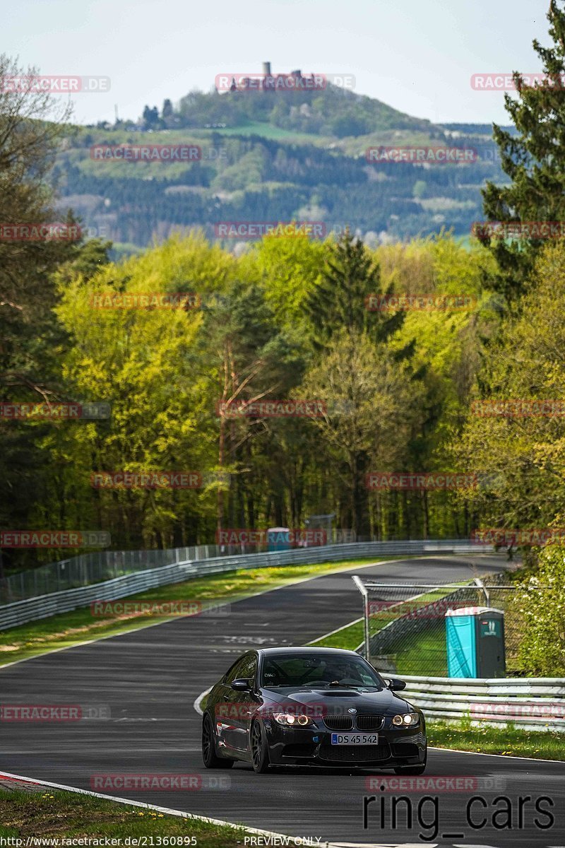
<path fill-rule="evenodd" d="M 355 582 L 364 596 L 365 652 L 368 644 L 369 660 L 379 671 L 446 677 L 446 612 L 473 616 L 477 608 L 488 607 L 504 613 L 506 673 L 518 672 L 523 622 L 507 576 L 471 584 L 374 583 L 359 577 Z"/>

